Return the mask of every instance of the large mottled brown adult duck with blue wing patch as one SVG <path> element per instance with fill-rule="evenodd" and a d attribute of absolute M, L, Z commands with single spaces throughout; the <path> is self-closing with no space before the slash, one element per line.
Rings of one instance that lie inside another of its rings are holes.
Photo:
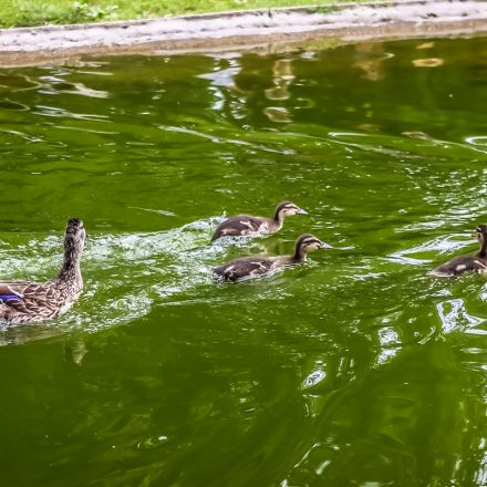
<path fill-rule="evenodd" d="M 81 253 L 86 231 L 71 218 L 64 236 L 64 261 L 59 274 L 46 282 L 0 281 L 0 320 L 7 324 L 35 323 L 68 311 L 83 290 Z"/>

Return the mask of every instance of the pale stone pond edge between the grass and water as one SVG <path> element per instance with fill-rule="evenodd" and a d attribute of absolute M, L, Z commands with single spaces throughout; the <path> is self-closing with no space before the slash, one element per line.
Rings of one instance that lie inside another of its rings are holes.
<path fill-rule="evenodd" d="M 487 3 L 402 0 L 207 13 L 164 19 L 0 30 L 0 65 L 80 54 L 169 54 L 246 49 L 333 38 L 452 37 L 487 33 Z"/>

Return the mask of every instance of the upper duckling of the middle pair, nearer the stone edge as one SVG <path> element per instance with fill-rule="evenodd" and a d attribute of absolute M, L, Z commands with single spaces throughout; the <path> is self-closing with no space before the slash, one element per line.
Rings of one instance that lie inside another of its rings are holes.
<path fill-rule="evenodd" d="M 272 218 L 236 215 L 218 225 L 211 241 L 226 236 L 276 234 L 282 228 L 284 217 L 292 215 L 308 215 L 308 211 L 291 201 L 281 201 Z"/>

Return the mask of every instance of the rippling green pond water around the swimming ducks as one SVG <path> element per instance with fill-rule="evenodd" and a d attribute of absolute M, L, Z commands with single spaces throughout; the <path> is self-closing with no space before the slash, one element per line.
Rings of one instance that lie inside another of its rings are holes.
<path fill-rule="evenodd" d="M 75 307 L 0 329 L 0 485 L 487 485 L 487 281 L 426 274 L 487 222 L 486 79 L 487 38 L 0 71 L 0 276 L 90 235 Z"/>

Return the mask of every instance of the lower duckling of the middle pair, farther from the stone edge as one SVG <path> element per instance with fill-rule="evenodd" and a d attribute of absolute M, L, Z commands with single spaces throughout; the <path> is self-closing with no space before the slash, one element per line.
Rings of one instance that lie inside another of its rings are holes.
<path fill-rule="evenodd" d="M 308 252 L 317 249 L 331 249 L 332 247 L 311 234 L 301 235 L 296 241 L 296 250 L 292 256 L 249 256 L 232 260 L 214 269 L 214 272 L 226 281 L 236 281 L 250 276 L 260 276 L 273 269 L 284 266 L 293 266 L 304 262 Z"/>

